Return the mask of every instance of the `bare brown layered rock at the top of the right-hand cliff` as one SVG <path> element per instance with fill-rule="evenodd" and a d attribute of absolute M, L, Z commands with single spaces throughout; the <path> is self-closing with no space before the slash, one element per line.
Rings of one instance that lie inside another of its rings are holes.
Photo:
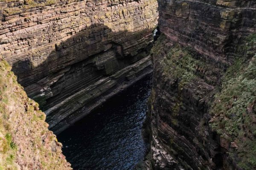
<path fill-rule="evenodd" d="M 159 0 L 159 27 L 171 40 L 231 63 L 239 42 L 256 29 L 254 0 Z"/>

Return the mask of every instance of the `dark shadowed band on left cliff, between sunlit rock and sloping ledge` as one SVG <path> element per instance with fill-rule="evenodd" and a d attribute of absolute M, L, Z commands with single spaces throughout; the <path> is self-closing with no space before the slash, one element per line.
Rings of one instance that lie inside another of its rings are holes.
<path fill-rule="evenodd" d="M 52 51 L 47 56 L 39 51 L 13 64 L 18 82 L 42 110 L 146 57 L 153 40 L 149 28 L 114 32 L 103 24 L 67 36 L 59 43 L 49 40 Z"/>

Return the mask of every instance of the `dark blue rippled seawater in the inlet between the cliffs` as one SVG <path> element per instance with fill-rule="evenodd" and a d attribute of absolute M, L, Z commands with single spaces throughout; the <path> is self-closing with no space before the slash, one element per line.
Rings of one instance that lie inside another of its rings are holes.
<path fill-rule="evenodd" d="M 143 160 L 142 124 L 150 92 L 147 76 L 57 136 L 74 170 L 132 170 Z"/>

